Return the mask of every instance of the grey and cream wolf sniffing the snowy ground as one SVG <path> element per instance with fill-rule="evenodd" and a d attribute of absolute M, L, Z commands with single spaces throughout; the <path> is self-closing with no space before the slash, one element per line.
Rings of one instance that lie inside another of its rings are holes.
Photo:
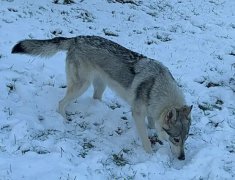
<path fill-rule="evenodd" d="M 132 110 L 144 150 L 152 153 L 147 127 L 155 128 L 160 140 L 168 141 L 173 154 L 185 159 L 184 144 L 191 125 L 192 106 L 166 66 L 99 36 L 56 37 L 22 40 L 12 53 L 50 57 L 66 51 L 67 92 L 58 112 L 66 117 L 66 106 L 93 84 L 93 98 L 102 100 L 108 86 Z"/>

